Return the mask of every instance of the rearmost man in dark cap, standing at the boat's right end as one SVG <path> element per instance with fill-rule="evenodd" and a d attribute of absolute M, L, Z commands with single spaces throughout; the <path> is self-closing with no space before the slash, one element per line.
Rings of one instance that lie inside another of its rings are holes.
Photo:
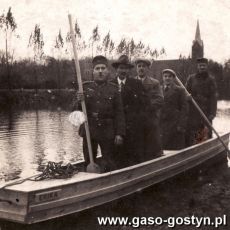
<path fill-rule="evenodd" d="M 186 88 L 209 121 L 212 122 L 217 110 L 217 87 L 215 78 L 208 72 L 208 60 L 206 58 L 197 59 L 197 73 L 188 77 Z M 205 134 L 205 130 L 208 130 L 206 137 L 200 137 L 201 133 Z M 206 126 L 195 106 L 190 103 L 187 144 L 192 145 L 198 143 L 198 139 L 211 137 L 212 130 Z"/>

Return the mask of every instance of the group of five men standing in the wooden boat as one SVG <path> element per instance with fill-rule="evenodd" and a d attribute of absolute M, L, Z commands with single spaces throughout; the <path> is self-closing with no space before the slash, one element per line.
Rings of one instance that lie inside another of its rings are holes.
<path fill-rule="evenodd" d="M 102 171 L 110 171 L 163 154 L 162 149 L 175 150 L 211 137 L 211 130 L 191 103 L 193 97 L 210 121 L 216 115 L 217 97 L 214 78 L 208 73 L 208 60 L 197 60 L 197 73 L 188 77 L 186 95 L 176 84 L 172 69 L 162 71 L 162 84 L 151 76 L 151 62 L 138 58 L 130 63 L 121 55 L 112 63 L 116 75 L 109 77 L 108 60 L 96 56 L 92 60 L 93 81 L 83 84 L 84 93 L 77 94 L 79 105 L 87 108 L 92 152 L 96 161 L 98 146 L 102 154 Z M 136 76 L 131 69 L 136 67 Z M 112 80 L 111 80 L 112 79 Z M 89 163 L 84 126 L 83 153 Z M 200 138 L 200 139 L 199 139 Z"/>

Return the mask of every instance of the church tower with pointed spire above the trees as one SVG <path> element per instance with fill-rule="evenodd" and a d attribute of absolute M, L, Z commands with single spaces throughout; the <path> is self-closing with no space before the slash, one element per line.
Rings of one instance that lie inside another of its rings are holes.
<path fill-rule="evenodd" d="M 193 41 L 192 44 L 192 59 L 196 60 L 197 58 L 201 58 L 201 57 L 204 57 L 204 44 L 203 41 L 201 40 L 200 26 L 198 20 L 196 26 L 195 40 Z"/>

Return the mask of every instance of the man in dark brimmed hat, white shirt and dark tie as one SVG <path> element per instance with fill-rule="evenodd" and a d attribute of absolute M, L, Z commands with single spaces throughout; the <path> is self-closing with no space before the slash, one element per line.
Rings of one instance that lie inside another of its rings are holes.
<path fill-rule="evenodd" d="M 126 121 L 126 136 L 122 148 L 117 151 L 117 161 L 120 167 L 125 167 L 141 162 L 145 94 L 141 82 L 130 77 L 130 70 L 134 66 L 126 55 L 121 55 L 112 66 L 116 69 L 112 82 L 118 85 L 121 93 Z"/>

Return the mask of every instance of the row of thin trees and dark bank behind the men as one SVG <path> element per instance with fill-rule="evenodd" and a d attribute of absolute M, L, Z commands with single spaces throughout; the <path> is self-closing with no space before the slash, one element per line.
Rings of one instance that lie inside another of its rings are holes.
<path fill-rule="evenodd" d="M 70 33 L 62 33 L 61 28 L 57 31 L 54 44 L 51 49 L 52 55 L 48 56 L 44 52 L 45 41 L 42 28 L 39 24 L 34 25 L 34 29 L 28 38 L 28 50 L 32 57 L 16 60 L 15 50 L 10 48 L 9 43 L 12 37 L 20 38 L 17 34 L 17 23 L 12 13 L 11 7 L 7 13 L 0 16 L 0 32 L 2 43 L 5 49 L 0 50 L 0 88 L 1 89 L 34 89 L 36 92 L 40 88 L 65 89 L 73 87 L 75 79 L 74 65 L 71 60 L 72 47 Z M 91 79 L 90 72 L 92 57 L 97 54 L 105 55 L 110 61 L 121 54 L 126 54 L 130 60 L 142 56 L 150 60 L 163 59 L 167 56 L 164 47 L 160 50 L 152 48 L 143 41 L 135 41 L 134 38 L 121 38 L 116 43 L 110 31 L 102 36 L 99 26 L 95 26 L 88 39 L 84 39 L 80 26 L 75 20 L 75 37 L 77 38 L 77 50 L 80 56 L 80 66 L 83 78 Z M 183 65 L 180 67 L 183 77 L 188 74 L 190 57 L 180 54 L 179 59 Z M 230 59 L 224 65 L 215 61 L 210 61 L 210 69 L 216 75 L 218 89 L 221 97 L 230 98 Z M 187 70 L 186 70 L 187 69 Z M 113 70 L 112 70 L 113 71 Z M 154 69 L 151 70 L 154 75 Z M 179 70 L 180 71 L 180 70 Z"/>

